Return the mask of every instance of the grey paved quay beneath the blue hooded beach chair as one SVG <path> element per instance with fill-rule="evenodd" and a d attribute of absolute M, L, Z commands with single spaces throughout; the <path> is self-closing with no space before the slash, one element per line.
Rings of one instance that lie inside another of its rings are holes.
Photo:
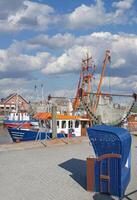
<path fill-rule="evenodd" d="M 123 200 L 137 200 L 137 136 L 132 138 L 132 179 Z M 31 148 L 25 143 L 9 145 L 13 148 L 0 145 L 1 200 L 117 199 L 86 191 L 86 158 L 93 155 L 87 139 L 36 148 L 34 144 Z"/>

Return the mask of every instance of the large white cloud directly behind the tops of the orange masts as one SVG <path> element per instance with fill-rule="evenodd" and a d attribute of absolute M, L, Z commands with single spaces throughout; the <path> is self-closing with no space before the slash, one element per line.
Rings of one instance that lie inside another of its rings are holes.
<path fill-rule="evenodd" d="M 76 38 L 75 43 L 62 55 L 48 62 L 42 72 L 56 74 L 77 71 L 80 69 L 81 59 L 87 52 L 91 53 L 95 62 L 100 66 L 106 49 L 111 51 L 111 68 L 115 71 L 115 76 L 116 71 L 119 71 L 119 76 L 127 76 L 129 68 L 130 74 L 137 73 L 137 36 L 133 34 L 113 35 L 109 32 L 98 32 Z"/>

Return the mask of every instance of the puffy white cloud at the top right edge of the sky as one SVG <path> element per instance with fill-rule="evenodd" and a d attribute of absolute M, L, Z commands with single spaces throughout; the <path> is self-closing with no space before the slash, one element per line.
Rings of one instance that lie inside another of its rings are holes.
<path fill-rule="evenodd" d="M 126 24 L 133 22 L 131 17 L 133 0 L 113 2 L 115 11 L 107 12 L 103 0 L 96 0 L 96 4 L 87 6 L 82 4 L 72 13 L 66 15 L 67 27 L 71 29 L 93 29 L 97 26 L 111 24 Z M 125 12 L 128 10 L 128 13 Z M 130 19 L 130 20 L 129 20 Z"/>

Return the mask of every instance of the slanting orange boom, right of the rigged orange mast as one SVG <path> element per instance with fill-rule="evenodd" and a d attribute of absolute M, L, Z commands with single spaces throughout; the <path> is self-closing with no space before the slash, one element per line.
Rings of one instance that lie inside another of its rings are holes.
<path fill-rule="evenodd" d="M 95 102 L 94 102 L 94 105 L 93 105 L 93 113 L 95 113 L 96 110 L 97 110 L 97 106 L 98 106 L 100 95 L 101 95 L 101 85 L 102 85 L 102 81 L 103 81 L 103 78 L 104 78 L 106 65 L 107 65 L 108 62 L 110 62 L 110 51 L 106 50 L 105 58 L 104 58 L 104 61 L 103 61 L 103 66 L 102 66 L 102 72 L 101 72 L 101 76 L 100 76 L 100 80 L 99 80 L 99 84 L 98 84 L 98 88 L 97 88 L 97 92 L 96 92 L 96 99 L 95 99 Z"/>

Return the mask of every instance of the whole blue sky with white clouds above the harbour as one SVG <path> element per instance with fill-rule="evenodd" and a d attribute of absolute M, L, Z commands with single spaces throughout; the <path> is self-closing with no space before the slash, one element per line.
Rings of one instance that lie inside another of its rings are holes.
<path fill-rule="evenodd" d="M 107 49 L 102 90 L 137 92 L 136 0 L 0 0 L 0 98 L 75 96 L 87 53 L 96 89 Z"/>

